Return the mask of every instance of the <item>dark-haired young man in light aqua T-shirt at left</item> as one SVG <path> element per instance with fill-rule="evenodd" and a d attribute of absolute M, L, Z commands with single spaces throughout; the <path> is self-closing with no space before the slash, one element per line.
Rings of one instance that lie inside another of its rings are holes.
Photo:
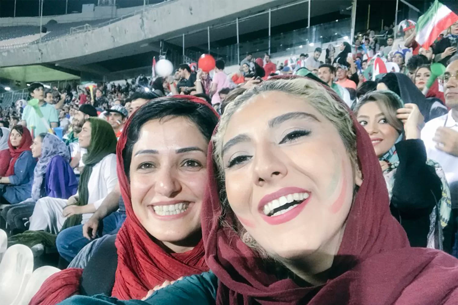
<path fill-rule="evenodd" d="M 42 83 L 32 83 L 28 87 L 31 98 L 38 100 L 38 107 L 40 107 L 44 120 L 49 124 L 49 127 L 58 127 L 59 117 L 54 105 L 50 105 L 44 101 L 44 86 Z M 48 127 L 43 123 L 43 119 L 38 116 L 35 109 L 27 105 L 22 113 L 21 124 L 30 130 L 33 135 L 38 135 L 48 132 Z"/>

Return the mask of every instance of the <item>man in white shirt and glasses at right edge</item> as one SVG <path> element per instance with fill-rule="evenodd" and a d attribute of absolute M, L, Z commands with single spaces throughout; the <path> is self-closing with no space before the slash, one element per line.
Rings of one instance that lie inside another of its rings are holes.
<path fill-rule="evenodd" d="M 452 227 L 454 232 L 452 255 L 458 257 L 456 228 L 458 208 L 458 59 L 448 64 L 441 81 L 444 86 L 445 104 L 451 110 L 442 117 L 434 118 L 426 123 L 421 131 L 421 139 L 425 143 L 428 157 L 439 162 L 442 166 L 450 186 L 452 225 L 455 222 Z"/>

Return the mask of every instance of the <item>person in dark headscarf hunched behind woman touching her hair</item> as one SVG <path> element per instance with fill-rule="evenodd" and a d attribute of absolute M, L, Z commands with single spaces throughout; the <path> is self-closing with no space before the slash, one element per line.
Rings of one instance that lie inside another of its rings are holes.
<path fill-rule="evenodd" d="M 447 113 L 447 107 L 435 99 L 426 98 L 407 75 L 387 73 L 378 80 L 377 90 L 390 90 L 401 97 L 406 104 L 416 104 L 425 122 Z"/>

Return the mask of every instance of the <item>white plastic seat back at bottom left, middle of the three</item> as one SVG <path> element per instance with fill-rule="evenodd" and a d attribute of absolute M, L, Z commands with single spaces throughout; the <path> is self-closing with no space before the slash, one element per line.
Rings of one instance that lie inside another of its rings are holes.
<path fill-rule="evenodd" d="M 33 272 L 33 254 L 29 247 L 14 245 L 0 262 L 1 305 L 16 305 Z"/>

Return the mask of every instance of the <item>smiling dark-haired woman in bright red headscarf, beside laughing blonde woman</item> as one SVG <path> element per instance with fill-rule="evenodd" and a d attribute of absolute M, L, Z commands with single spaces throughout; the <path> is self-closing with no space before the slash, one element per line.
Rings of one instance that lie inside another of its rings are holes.
<path fill-rule="evenodd" d="M 84 271 L 56 273 L 30 304 L 57 304 L 79 292 L 142 299 L 164 281 L 207 271 L 200 211 L 217 123 L 218 114 L 198 98 L 163 97 L 140 107 L 116 151 L 127 214 L 122 228 Z"/>

